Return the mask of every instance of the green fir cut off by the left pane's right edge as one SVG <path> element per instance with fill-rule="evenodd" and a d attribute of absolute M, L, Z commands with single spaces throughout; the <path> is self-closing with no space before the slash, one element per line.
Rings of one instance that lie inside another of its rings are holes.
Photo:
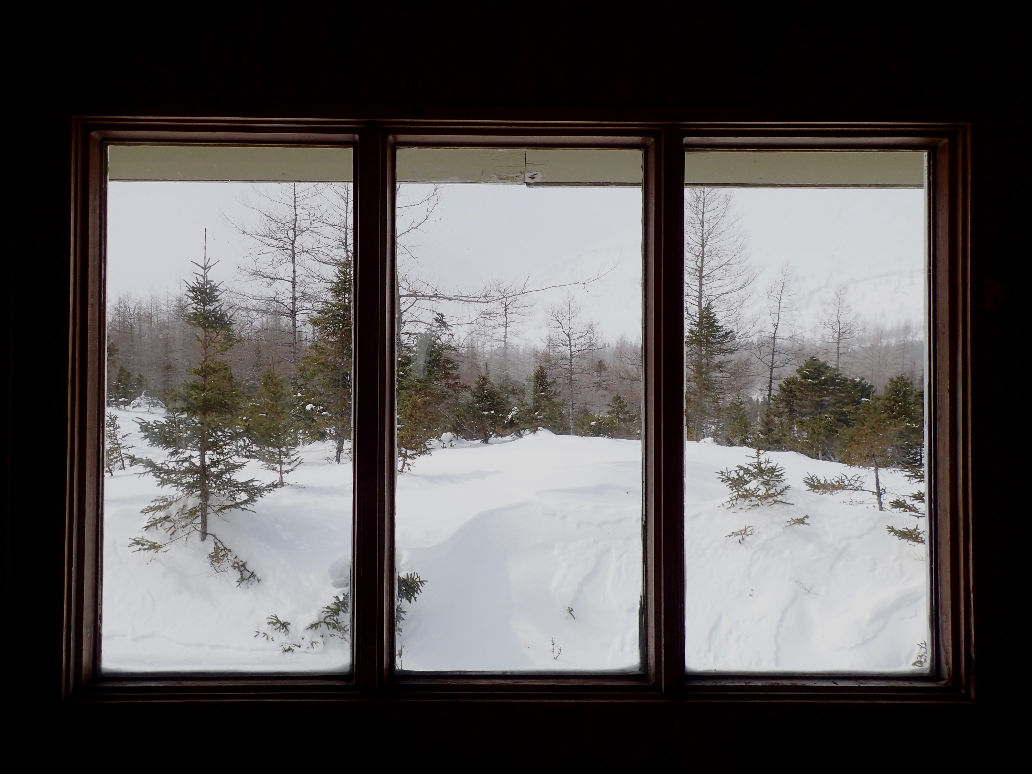
<path fill-rule="evenodd" d="M 312 315 L 315 341 L 297 369 L 297 422 L 308 440 L 333 443 L 335 462 L 351 442 L 352 288 L 346 261 Z"/>

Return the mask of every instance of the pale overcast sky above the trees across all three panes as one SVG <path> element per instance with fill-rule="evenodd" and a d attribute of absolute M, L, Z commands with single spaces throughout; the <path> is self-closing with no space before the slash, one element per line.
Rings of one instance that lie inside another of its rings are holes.
<path fill-rule="evenodd" d="M 199 260 L 203 231 L 219 280 L 232 280 L 247 243 L 223 213 L 239 218 L 250 183 L 110 183 L 108 297 L 174 290 Z M 423 186 L 407 184 L 406 194 Z M 761 269 L 756 290 L 784 262 L 799 277 L 796 302 L 803 328 L 814 325 L 834 288 L 847 288 L 857 311 L 894 325 L 923 317 L 924 233 L 920 190 L 734 189 L 749 260 Z M 434 221 L 413 241 L 422 269 L 440 284 L 476 288 L 491 277 L 534 286 L 569 282 L 615 268 L 585 293 L 585 314 L 604 335 L 635 338 L 641 329 L 641 191 L 636 188 L 527 188 L 452 185 L 443 189 Z M 540 311 L 561 292 L 543 293 L 526 331 L 544 332 Z"/>

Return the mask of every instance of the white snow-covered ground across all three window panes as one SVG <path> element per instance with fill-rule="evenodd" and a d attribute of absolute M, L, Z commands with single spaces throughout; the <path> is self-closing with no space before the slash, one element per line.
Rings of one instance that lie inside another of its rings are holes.
<path fill-rule="evenodd" d="M 125 430 L 146 416 L 117 414 Z M 128 443 L 148 452 L 136 432 Z M 689 670 L 915 671 L 928 638 L 925 546 L 885 524 L 924 528 L 925 519 L 810 493 L 808 473 L 858 471 L 787 452 L 771 457 L 786 471 L 793 505 L 731 512 L 715 472 L 749 452 L 686 446 Z M 348 669 L 348 643 L 312 645 L 304 631 L 350 590 L 351 466 L 328 454 L 307 447 L 294 486 L 254 513 L 215 520 L 212 530 L 261 577 L 241 588 L 233 573 L 213 574 L 209 546 L 196 539 L 159 554 L 128 548 L 142 534 L 140 509 L 160 490 L 133 471 L 106 477 L 103 668 Z M 247 473 L 271 477 L 257 464 Z M 893 492 L 914 488 L 895 473 L 882 481 Z M 398 478 L 398 569 L 427 583 L 405 605 L 400 666 L 638 669 L 641 502 L 637 442 L 540 431 L 486 446 L 458 441 L 417 460 Z M 785 526 L 803 515 L 808 525 Z M 725 537 L 745 525 L 754 535 L 742 543 Z M 272 614 L 291 622 L 289 638 L 268 628 Z M 300 647 L 282 652 L 292 643 Z"/>

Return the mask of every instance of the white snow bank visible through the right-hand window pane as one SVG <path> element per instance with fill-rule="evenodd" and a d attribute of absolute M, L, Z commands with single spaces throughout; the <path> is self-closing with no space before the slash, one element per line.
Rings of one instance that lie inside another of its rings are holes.
<path fill-rule="evenodd" d="M 785 470 L 792 505 L 729 511 L 714 471 L 749 461 L 751 449 L 688 443 L 685 448 L 685 647 L 688 671 L 922 672 L 912 666 L 929 639 L 927 545 L 885 525 L 927 519 L 878 511 L 865 492 L 816 494 L 807 474 L 874 474 L 795 452 L 770 452 Z M 893 494 L 918 488 L 880 472 Z M 885 502 L 892 495 L 885 496 Z M 787 525 L 809 516 L 807 524 Z M 744 526 L 753 535 L 725 537 Z"/>

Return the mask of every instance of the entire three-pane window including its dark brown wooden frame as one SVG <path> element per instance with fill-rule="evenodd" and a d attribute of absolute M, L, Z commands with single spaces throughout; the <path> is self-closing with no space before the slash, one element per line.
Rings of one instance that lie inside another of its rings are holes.
<path fill-rule="evenodd" d="M 80 125 L 72 695 L 964 696 L 965 430 L 942 419 L 966 357 L 960 130 L 285 126 Z M 119 171 L 120 153 L 137 171 Z M 700 303 L 692 234 L 711 204 L 742 273 Z M 168 228 L 204 206 L 221 224 L 206 248 L 208 216 Z M 311 226 L 290 241 L 289 279 L 269 272 L 281 243 L 262 236 L 285 222 L 263 207 L 283 206 Z M 906 272 L 896 300 L 863 245 Z M 205 250 L 226 261 L 207 285 Z M 89 303 L 102 278 L 103 314 Z M 119 283 L 138 295 L 181 282 L 175 325 L 142 303 L 119 317 Z M 201 291 L 233 321 L 213 365 L 244 407 L 226 470 L 254 480 L 220 504 L 254 512 L 224 509 L 205 541 L 191 521 L 189 543 L 168 545 L 171 522 L 130 527 L 175 489 L 154 475 L 172 458 L 155 451 L 159 424 L 191 417 L 184 385 L 205 361 L 195 350 L 170 373 L 152 342 L 205 335 Z M 823 327 L 836 298 L 838 327 Z M 880 343 L 870 323 L 850 332 L 846 304 L 881 315 Z M 144 328 L 141 350 L 119 343 Z M 323 345 L 341 378 L 313 396 Z M 154 395 L 165 374 L 179 387 Z M 834 394 L 806 399 L 835 412 L 798 408 L 791 390 L 811 382 Z M 866 413 L 884 418 L 891 387 L 908 401 L 892 439 L 874 457 L 846 449 Z M 273 439 L 273 404 L 289 443 Z M 149 455 L 142 476 L 106 470 L 120 444 Z"/>

